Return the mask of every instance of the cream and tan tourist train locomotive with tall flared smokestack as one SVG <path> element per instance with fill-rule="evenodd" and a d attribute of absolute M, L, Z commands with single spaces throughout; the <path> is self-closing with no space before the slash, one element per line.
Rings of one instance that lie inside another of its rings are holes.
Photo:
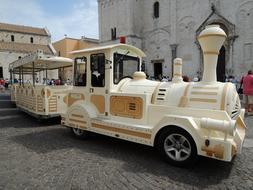
<path fill-rule="evenodd" d="M 200 82 L 182 80 L 179 58 L 174 60 L 171 82 L 147 80 L 140 71 L 144 53 L 126 44 L 72 52 L 74 76 L 83 83 L 76 80 L 68 94 L 62 125 L 79 137 L 91 131 L 155 146 L 177 166 L 194 163 L 198 155 L 231 161 L 242 151 L 246 126 L 235 86 L 216 80 L 225 39 L 217 25 L 200 33 Z"/>

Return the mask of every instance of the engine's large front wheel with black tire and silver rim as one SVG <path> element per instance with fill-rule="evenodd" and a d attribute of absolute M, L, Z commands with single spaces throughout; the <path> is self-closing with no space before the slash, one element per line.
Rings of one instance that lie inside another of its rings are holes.
<path fill-rule="evenodd" d="M 156 146 L 161 156 L 174 166 L 191 166 L 198 158 L 193 138 L 179 127 L 171 126 L 161 131 Z"/>

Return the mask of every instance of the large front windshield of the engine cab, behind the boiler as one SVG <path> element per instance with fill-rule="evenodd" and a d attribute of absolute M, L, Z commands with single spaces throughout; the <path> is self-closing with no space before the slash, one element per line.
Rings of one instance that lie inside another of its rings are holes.
<path fill-rule="evenodd" d="M 113 82 L 118 84 L 125 77 L 131 77 L 139 70 L 140 59 L 126 54 L 114 53 Z"/>

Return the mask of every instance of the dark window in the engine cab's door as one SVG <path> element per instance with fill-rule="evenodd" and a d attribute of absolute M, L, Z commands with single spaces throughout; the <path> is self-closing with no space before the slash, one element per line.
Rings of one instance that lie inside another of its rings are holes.
<path fill-rule="evenodd" d="M 93 54 L 90 57 L 91 85 L 93 87 L 105 86 L 105 55 Z"/>

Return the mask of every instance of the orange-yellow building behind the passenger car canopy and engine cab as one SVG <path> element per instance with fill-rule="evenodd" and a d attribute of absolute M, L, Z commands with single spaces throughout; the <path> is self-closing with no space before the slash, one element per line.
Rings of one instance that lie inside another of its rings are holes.
<path fill-rule="evenodd" d="M 81 39 L 75 39 L 66 37 L 62 40 L 54 42 L 53 46 L 58 56 L 73 58 L 72 55 L 70 54 L 71 51 L 98 46 L 98 44 L 99 41 L 97 39 L 86 37 L 82 37 Z M 72 67 L 61 69 L 59 72 L 59 76 L 63 80 L 67 79 L 71 80 L 73 78 Z"/>

